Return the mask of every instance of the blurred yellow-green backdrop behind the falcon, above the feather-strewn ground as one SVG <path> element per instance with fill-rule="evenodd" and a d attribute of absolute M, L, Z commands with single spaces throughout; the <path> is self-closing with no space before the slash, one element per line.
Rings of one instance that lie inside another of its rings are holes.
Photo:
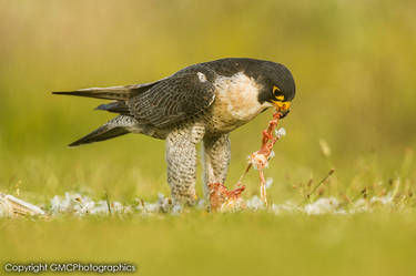
<path fill-rule="evenodd" d="M 364 188 L 377 194 L 397 178 L 410 193 L 416 178 L 415 10 L 412 0 L 0 0 L 0 191 L 19 190 L 34 203 L 48 203 L 65 191 L 97 197 L 106 192 L 122 202 L 168 194 L 163 141 L 130 134 L 68 149 L 112 115 L 92 111 L 100 100 L 50 92 L 151 82 L 190 64 L 247 57 L 285 64 L 297 85 L 292 112 L 281 123 L 287 136 L 276 144 L 265 172 L 274 178 L 271 202 L 302 201 L 300 187 L 332 167 L 335 176 L 322 195 L 357 198 Z M 233 132 L 229 186 L 244 170 L 246 156 L 258 149 L 271 114 Z M 331 154 L 323 154 L 319 141 Z M 246 196 L 258 193 L 256 173 L 245 184 Z M 200 184 L 197 188 L 202 195 Z M 280 219 L 297 225 L 303 218 Z M 248 227 L 245 221 L 237 225 Z M 319 225 L 310 223 L 305 219 L 305 229 Z M 265 228 L 274 229 L 271 224 Z M 369 225 L 383 228 L 383 223 Z M 68 229 L 65 224 L 55 227 Z M 3 226 L 4 236 L 23 233 L 17 228 Z M 347 228 L 354 231 L 353 225 Z M 169 223 L 164 229 L 166 234 Z M 192 233 L 192 226 L 186 231 Z M 302 238 L 303 233 L 297 234 Z M 351 236 L 343 236 L 344 245 Z M 10 256 L 28 257 L 16 249 L 18 242 L 9 245 L 14 253 Z"/>

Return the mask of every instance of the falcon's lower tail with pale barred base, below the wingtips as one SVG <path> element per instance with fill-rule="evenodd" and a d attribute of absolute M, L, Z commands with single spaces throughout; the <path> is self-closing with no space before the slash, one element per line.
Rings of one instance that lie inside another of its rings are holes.
<path fill-rule="evenodd" d="M 90 134 L 71 143 L 69 146 L 89 144 L 128 134 L 130 133 L 129 127 L 134 126 L 135 123 L 135 120 L 131 116 L 119 115 Z"/>

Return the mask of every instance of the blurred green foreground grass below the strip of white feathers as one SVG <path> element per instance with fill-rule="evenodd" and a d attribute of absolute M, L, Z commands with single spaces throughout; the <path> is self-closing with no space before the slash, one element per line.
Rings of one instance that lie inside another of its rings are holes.
<path fill-rule="evenodd" d="M 1 228 L 1 257 L 134 263 L 139 275 L 413 275 L 414 222 L 388 213 L 17 221 Z"/>

